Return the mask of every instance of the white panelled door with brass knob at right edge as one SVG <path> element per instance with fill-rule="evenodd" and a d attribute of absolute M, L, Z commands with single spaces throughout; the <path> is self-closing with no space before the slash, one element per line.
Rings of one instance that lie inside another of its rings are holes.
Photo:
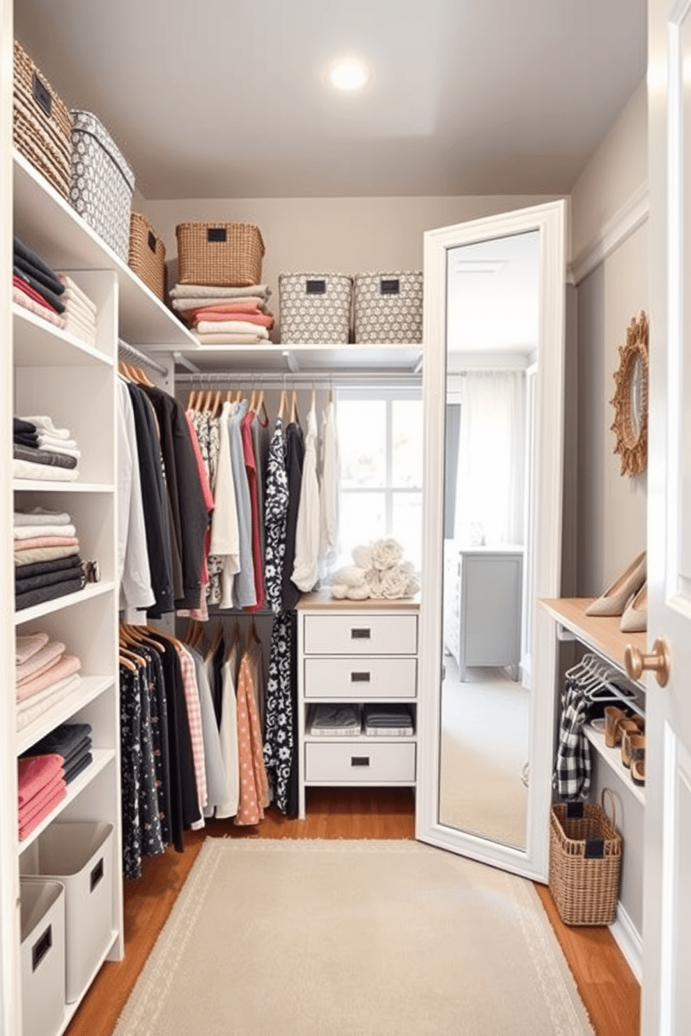
<path fill-rule="evenodd" d="M 691 1023 L 691 2 L 649 2 L 651 376 L 644 1036 Z M 649 650 L 650 646 L 649 646 Z"/>

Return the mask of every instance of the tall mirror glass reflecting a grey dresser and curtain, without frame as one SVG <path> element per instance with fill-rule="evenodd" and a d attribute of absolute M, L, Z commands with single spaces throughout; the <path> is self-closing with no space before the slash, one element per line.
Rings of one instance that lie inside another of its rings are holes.
<path fill-rule="evenodd" d="M 438 819 L 524 850 L 539 232 L 447 256 Z"/>

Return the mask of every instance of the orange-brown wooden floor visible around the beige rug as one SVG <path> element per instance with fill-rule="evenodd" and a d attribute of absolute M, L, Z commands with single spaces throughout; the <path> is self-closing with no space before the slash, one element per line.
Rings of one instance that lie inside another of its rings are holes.
<path fill-rule="evenodd" d="M 311 788 L 306 821 L 271 807 L 256 828 L 212 821 L 185 834 L 185 852 L 144 861 L 139 881 L 125 883 L 125 957 L 106 963 L 73 1018 L 67 1036 L 110 1036 L 180 888 L 208 837 L 413 838 L 414 804 L 407 788 Z M 537 886 L 598 1036 L 637 1036 L 640 988 L 607 928 L 567 928 L 549 890 Z M 252 1036 L 248 1033 L 247 1036 Z"/>

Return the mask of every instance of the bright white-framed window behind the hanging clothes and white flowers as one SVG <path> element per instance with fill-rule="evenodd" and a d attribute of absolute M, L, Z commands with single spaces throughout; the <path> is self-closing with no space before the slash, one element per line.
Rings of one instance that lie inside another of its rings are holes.
<path fill-rule="evenodd" d="M 420 571 L 423 513 L 423 403 L 420 387 L 341 387 L 340 565 L 352 549 L 384 537 Z"/>

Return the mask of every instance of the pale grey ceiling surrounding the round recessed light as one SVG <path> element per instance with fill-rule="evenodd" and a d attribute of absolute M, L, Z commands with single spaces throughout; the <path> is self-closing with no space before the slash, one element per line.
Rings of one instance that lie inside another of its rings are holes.
<path fill-rule="evenodd" d="M 148 199 L 567 194 L 645 68 L 645 0 L 18 0 L 15 29 Z"/>

